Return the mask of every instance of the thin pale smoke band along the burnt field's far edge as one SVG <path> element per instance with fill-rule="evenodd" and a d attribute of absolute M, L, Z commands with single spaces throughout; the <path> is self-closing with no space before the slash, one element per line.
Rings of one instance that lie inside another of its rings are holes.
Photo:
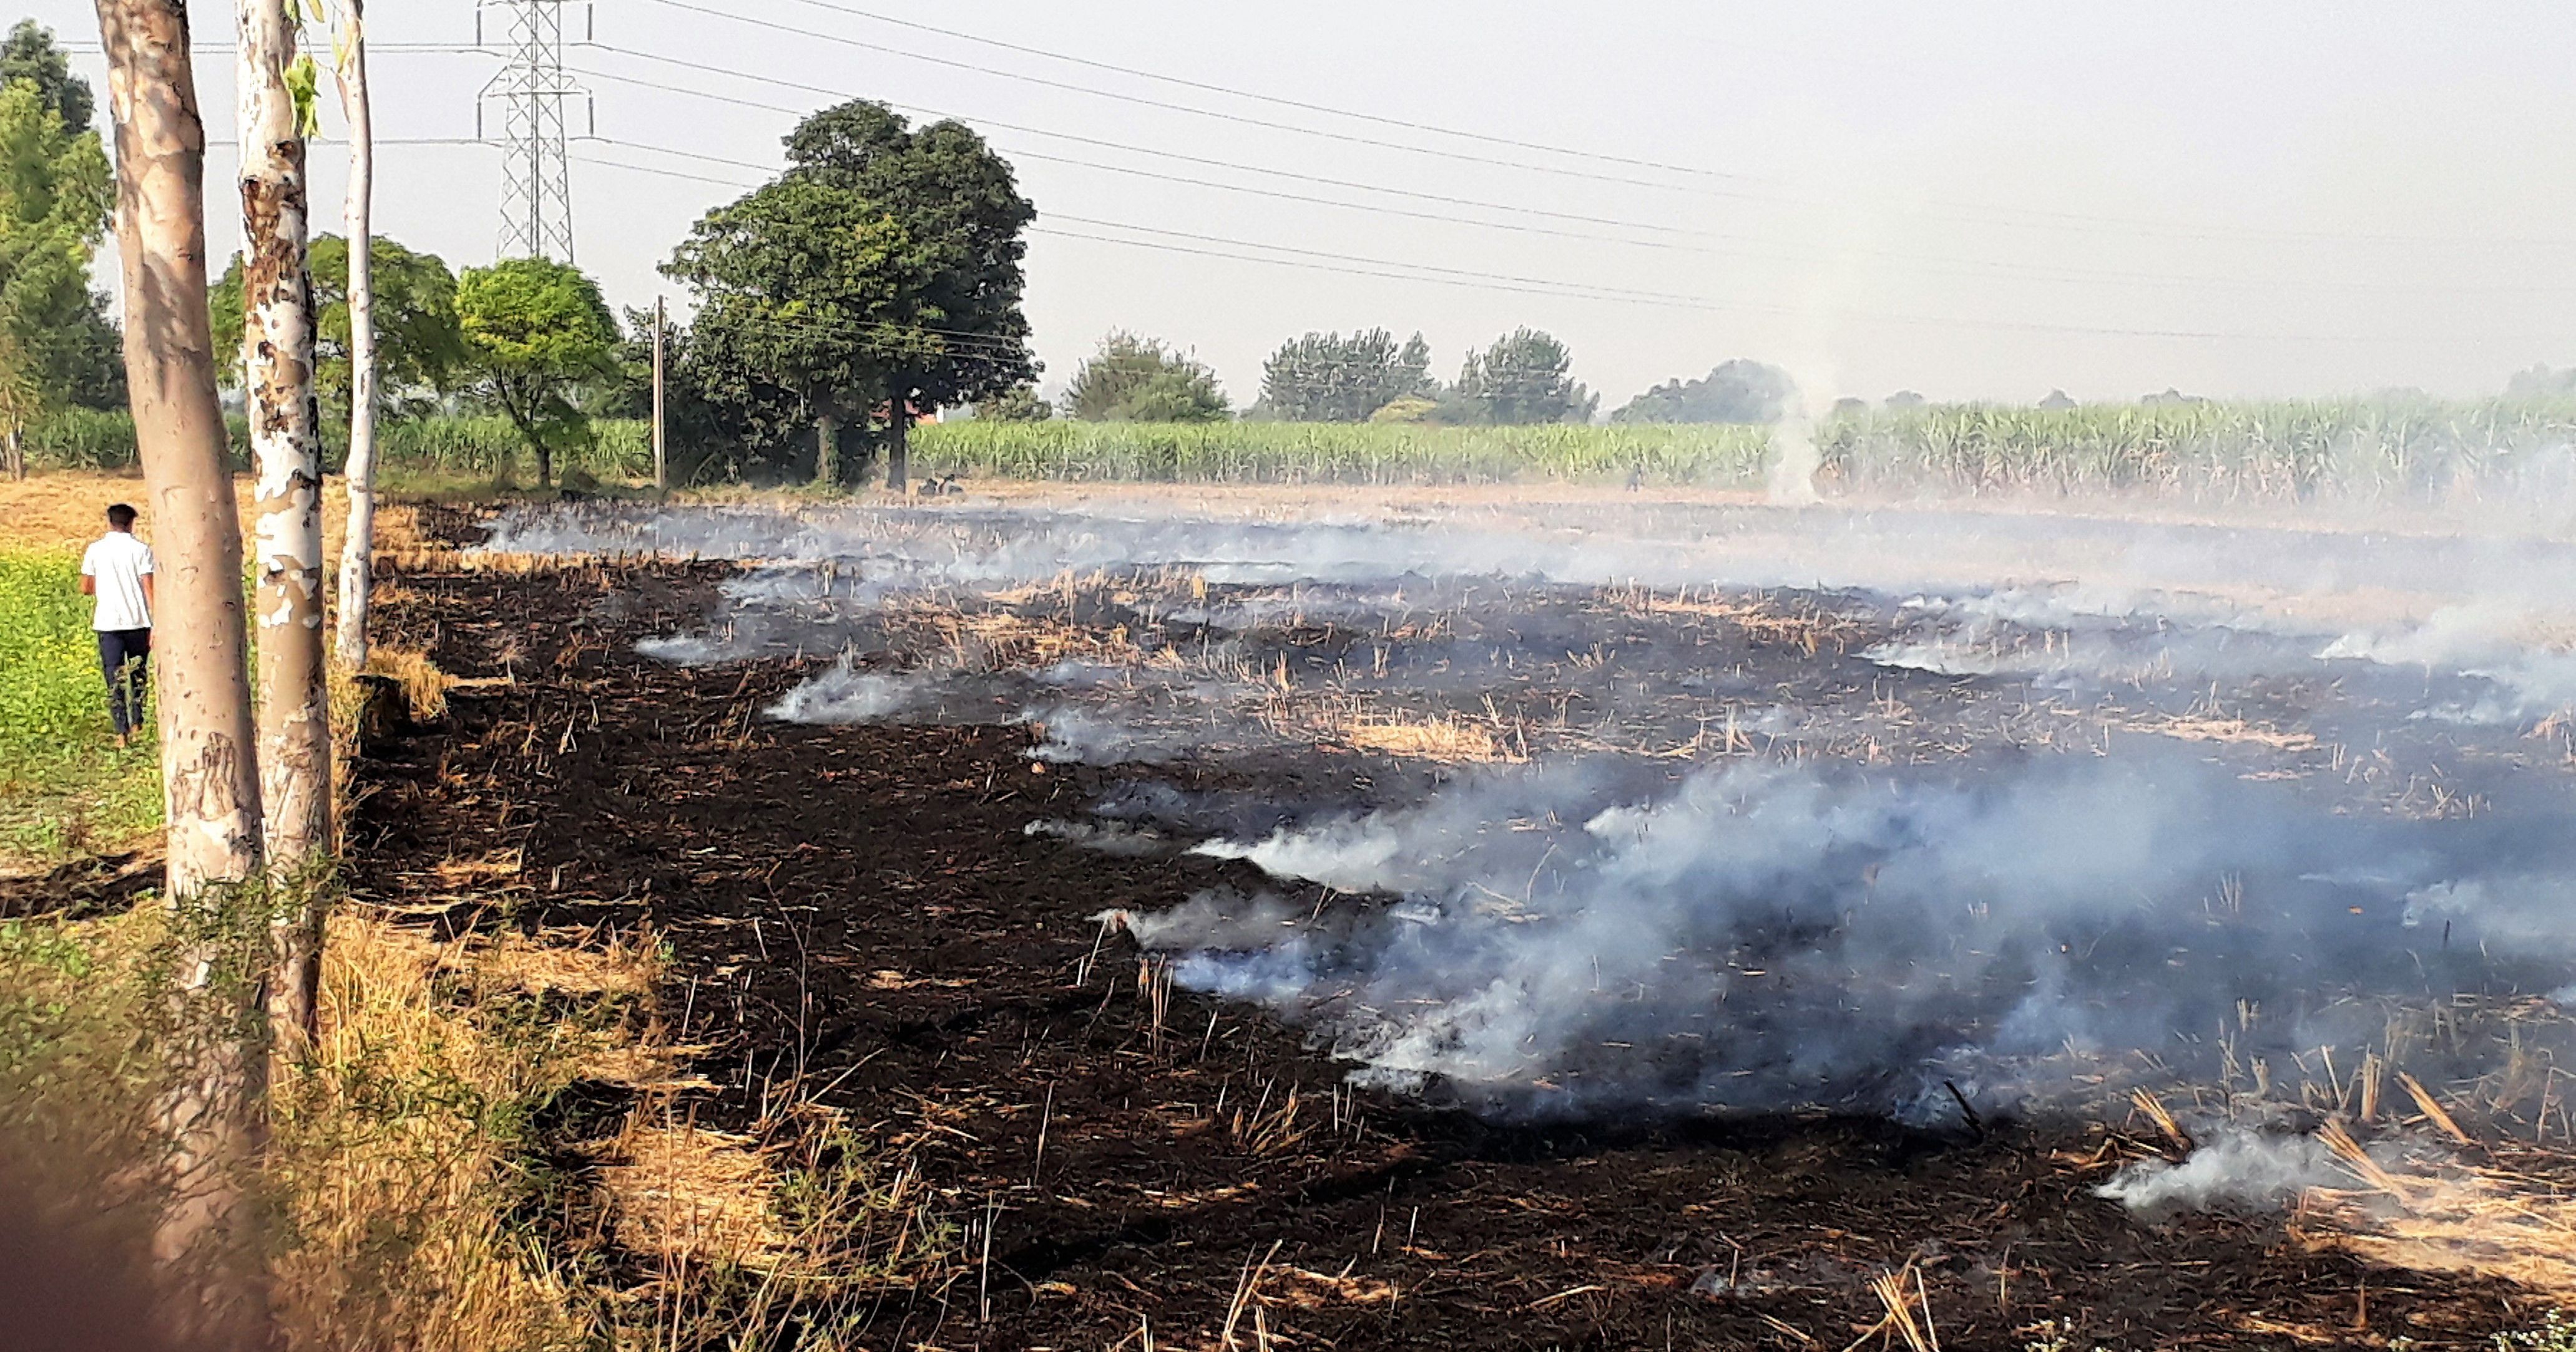
<path fill-rule="evenodd" d="M 1819 386 L 1824 389 L 1824 386 Z M 1795 427 L 1785 422 L 1783 427 Z M 1793 435 L 1793 433 L 1785 433 Z M 726 587 L 765 641 L 829 626 L 889 595 L 1177 572 L 1206 585 L 1342 585 L 1388 595 L 1425 579 L 1566 587 L 1829 587 L 1955 597 L 2092 587 L 2166 615 L 2267 615 L 2324 639 L 2391 618 L 2509 597 L 2576 608 L 2576 546 L 2540 538 L 2375 533 L 2334 523 L 2213 525 L 1991 507 L 1458 502 L 1296 515 L 1177 497 L 1064 507 L 515 510 L 495 551 L 654 551 L 768 564 Z M 2231 621 L 2233 623 L 2233 621 Z M 724 626 L 716 626 L 719 636 Z M 840 644 L 809 644 L 837 652 Z M 734 641 L 726 652 L 744 652 Z"/>

